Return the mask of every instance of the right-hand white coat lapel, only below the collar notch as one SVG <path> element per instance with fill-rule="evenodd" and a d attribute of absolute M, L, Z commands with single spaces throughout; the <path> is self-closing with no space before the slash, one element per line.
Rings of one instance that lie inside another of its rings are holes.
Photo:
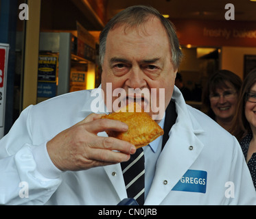
<path fill-rule="evenodd" d="M 184 139 L 184 135 L 190 139 Z M 194 133 L 173 127 L 170 136 L 174 137 L 169 138 L 159 156 L 146 205 L 160 205 L 202 151 L 203 144 Z M 191 147 L 189 150 L 189 146 L 193 146 L 193 150 Z"/>

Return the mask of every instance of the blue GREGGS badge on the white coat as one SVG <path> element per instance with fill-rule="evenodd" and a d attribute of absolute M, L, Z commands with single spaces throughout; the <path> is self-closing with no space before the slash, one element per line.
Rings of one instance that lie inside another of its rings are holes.
<path fill-rule="evenodd" d="M 183 192 L 206 192 L 207 172 L 203 170 L 187 170 L 172 190 Z"/>

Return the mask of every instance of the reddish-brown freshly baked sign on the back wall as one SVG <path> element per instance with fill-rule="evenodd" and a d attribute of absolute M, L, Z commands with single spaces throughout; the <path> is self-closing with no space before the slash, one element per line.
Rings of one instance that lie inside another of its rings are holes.
<path fill-rule="evenodd" d="M 256 23 L 243 21 L 173 20 L 182 45 L 256 47 Z"/>

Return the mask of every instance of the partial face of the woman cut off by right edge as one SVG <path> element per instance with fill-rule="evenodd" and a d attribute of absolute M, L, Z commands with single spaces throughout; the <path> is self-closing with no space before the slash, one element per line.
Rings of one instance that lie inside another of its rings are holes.
<path fill-rule="evenodd" d="M 250 95 L 256 95 L 256 83 L 251 87 L 249 93 Z M 251 129 L 256 129 L 256 103 L 246 101 L 244 112 Z"/>

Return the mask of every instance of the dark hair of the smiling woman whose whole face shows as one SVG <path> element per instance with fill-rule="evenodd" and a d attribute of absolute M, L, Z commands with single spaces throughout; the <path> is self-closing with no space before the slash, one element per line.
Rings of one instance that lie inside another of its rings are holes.
<path fill-rule="evenodd" d="M 216 73 L 211 75 L 207 81 L 207 86 L 205 86 L 205 90 L 202 94 L 202 103 L 207 107 L 207 115 L 213 119 L 215 119 L 215 114 L 211 110 L 209 95 L 211 92 L 216 92 L 218 88 L 229 88 L 228 83 L 231 83 L 234 86 L 237 94 L 240 92 L 242 80 L 238 75 L 235 75 L 235 73 L 230 70 L 218 70 Z"/>

